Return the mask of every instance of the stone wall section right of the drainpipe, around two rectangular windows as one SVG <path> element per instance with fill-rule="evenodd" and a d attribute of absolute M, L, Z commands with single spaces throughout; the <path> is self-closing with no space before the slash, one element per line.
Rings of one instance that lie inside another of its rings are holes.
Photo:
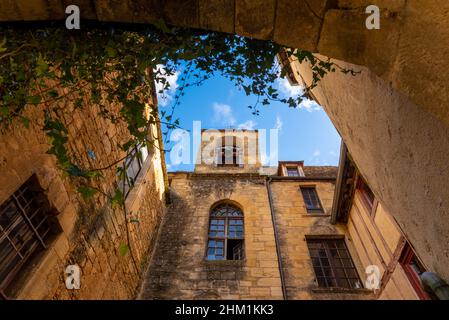
<path fill-rule="evenodd" d="M 307 167 L 306 167 L 307 168 Z M 301 186 L 315 186 L 323 213 L 308 213 L 301 195 Z M 332 290 L 318 287 L 307 247 L 306 236 L 340 235 L 364 282 L 365 268 L 360 263 L 352 238 L 344 225 L 330 223 L 335 181 L 276 181 L 271 183 L 273 207 L 279 234 L 280 251 L 288 299 L 372 299 L 364 289 Z"/>

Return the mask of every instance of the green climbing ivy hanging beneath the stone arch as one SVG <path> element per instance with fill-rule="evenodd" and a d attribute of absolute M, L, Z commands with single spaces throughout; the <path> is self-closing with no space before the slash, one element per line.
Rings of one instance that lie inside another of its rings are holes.
<path fill-rule="evenodd" d="M 272 101 L 297 107 L 310 89 L 336 69 L 354 74 L 310 52 L 287 49 L 285 54 L 291 60 L 310 63 L 313 81 L 304 88 L 303 95 L 280 98 L 275 81 L 287 72 L 287 66 L 280 66 L 276 60 L 281 50 L 270 41 L 169 28 L 164 23 L 138 28 L 97 25 L 77 31 L 51 25 L 32 29 L 2 27 L 0 130 L 9 130 L 17 121 L 28 127 L 35 119 L 26 117 L 25 107 L 44 106 L 42 130 L 50 139 L 48 153 L 56 157 L 66 175 L 78 181 L 77 190 L 84 198 L 103 194 L 113 206 L 122 206 L 126 214 L 123 187 L 128 177 L 123 161 L 141 156 L 139 152 L 131 153 L 137 146 L 155 147 L 154 140 L 148 138 L 152 124 L 163 124 L 165 135 L 180 126 L 179 119 L 174 119 L 174 110 L 189 87 L 219 74 L 247 95 L 257 96 L 255 104 L 248 107 L 258 114 L 260 105 Z M 157 114 L 156 109 L 151 109 L 145 116 L 154 81 L 162 86 L 162 91 L 168 90 L 167 79 L 176 72 L 180 72 L 181 86 L 171 110 Z M 112 123 L 124 122 L 129 132 L 129 139 L 120 145 L 126 156 L 104 168 L 83 167 L 67 150 L 69 131 L 61 120 L 67 112 L 67 101 L 83 109 L 86 98 L 99 107 L 101 117 Z M 111 105 L 118 106 L 118 112 L 111 110 Z M 117 170 L 119 177 L 116 188 L 108 192 L 96 187 L 93 181 L 111 168 Z"/>

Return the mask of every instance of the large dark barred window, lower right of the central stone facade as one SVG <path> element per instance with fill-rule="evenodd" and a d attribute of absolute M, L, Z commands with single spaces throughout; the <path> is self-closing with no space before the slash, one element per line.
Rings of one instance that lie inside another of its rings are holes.
<path fill-rule="evenodd" d="M 362 288 L 343 239 L 307 239 L 307 246 L 320 287 Z"/>

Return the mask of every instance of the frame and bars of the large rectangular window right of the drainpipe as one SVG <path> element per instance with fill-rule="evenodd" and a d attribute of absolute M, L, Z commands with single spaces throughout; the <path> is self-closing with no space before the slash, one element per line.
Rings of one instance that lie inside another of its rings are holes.
<path fill-rule="evenodd" d="M 342 246 L 339 247 L 337 244 L 335 244 L 335 248 L 331 248 L 329 246 L 329 243 L 331 243 L 331 242 L 341 243 Z M 316 279 L 318 287 L 325 288 L 325 289 L 332 289 L 332 288 L 345 288 L 345 289 L 355 289 L 355 290 L 363 289 L 363 283 L 361 281 L 357 267 L 355 266 L 354 259 L 352 258 L 351 252 L 349 251 L 349 248 L 346 245 L 346 241 L 345 241 L 344 237 L 338 237 L 338 238 L 336 238 L 336 237 L 306 237 L 306 243 L 307 243 L 310 261 L 311 261 L 311 265 L 312 265 L 312 268 L 313 268 L 313 271 L 315 274 L 315 279 Z M 314 248 L 311 246 L 312 243 L 319 243 L 322 248 L 319 248 L 319 249 Z M 320 254 L 318 254 L 317 256 L 313 255 L 312 250 L 324 250 L 325 257 L 321 256 Z M 336 250 L 336 252 L 338 254 L 337 258 L 332 255 L 331 250 Z M 346 253 L 347 257 L 342 257 L 340 255 L 340 251 L 344 251 Z M 315 259 L 319 260 L 319 266 L 315 265 L 316 264 Z M 327 266 L 324 266 L 322 264 L 322 261 L 321 261 L 322 259 L 327 259 L 327 261 L 328 261 Z M 337 263 L 336 263 L 337 260 L 340 260 L 340 266 L 337 265 Z M 346 266 L 345 263 L 343 262 L 343 260 L 348 260 L 350 262 L 350 266 Z M 321 276 L 317 272 L 318 268 L 319 268 L 320 273 L 322 274 Z M 326 276 L 325 268 L 328 268 L 330 270 L 331 276 Z M 343 270 L 343 274 L 345 276 L 341 277 L 341 276 L 337 275 L 337 273 L 336 273 L 337 269 Z M 352 271 L 355 276 L 348 276 L 349 271 Z M 324 279 L 325 285 L 322 285 L 323 282 L 320 281 L 319 278 Z M 332 283 L 332 282 L 328 281 L 328 279 L 333 280 L 335 285 L 329 285 L 329 283 Z M 347 284 L 346 286 L 341 285 L 341 282 L 343 280 Z M 350 280 L 352 280 L 352 281 L 350 281 Z M 352 283 L 354 283 L 354 285 L 352 285 Z M 358 287 L 355 285 L 356 283 L 359 284 Z"/>

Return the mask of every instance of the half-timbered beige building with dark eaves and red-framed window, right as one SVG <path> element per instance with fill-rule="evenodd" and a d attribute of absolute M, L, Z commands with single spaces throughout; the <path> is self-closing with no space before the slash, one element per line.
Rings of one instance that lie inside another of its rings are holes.
<path fill-rule="evenodd" d="M 363 266 L 377 266 L 378 299 L 430 299 L 420 275 L 430 271 L 396 220 L 385 210 L 366 180 L 341 148 L 332 223 L 346 225 Z M 366 270 L 367 273 L 374 270 Z"/>

